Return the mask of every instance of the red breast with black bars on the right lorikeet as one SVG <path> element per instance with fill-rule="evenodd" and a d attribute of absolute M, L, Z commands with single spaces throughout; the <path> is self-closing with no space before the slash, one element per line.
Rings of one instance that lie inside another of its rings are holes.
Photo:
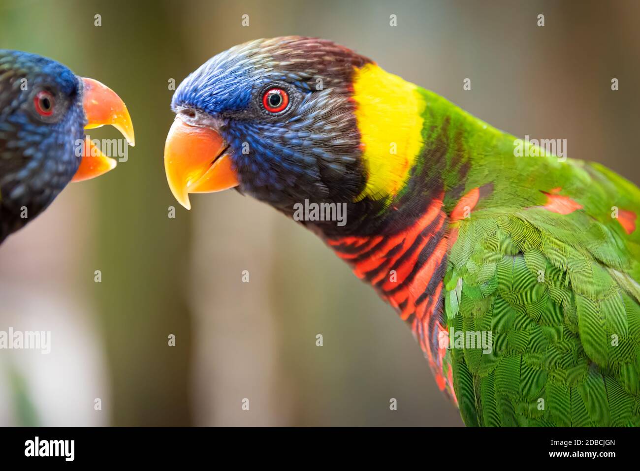
<path fill-rule="evenodd" d="M 456 233 L 449 228 L 451 218 L 443 209 L 443 196 L 433 194 L 424 205 L 421 201 L 411 223 L 394 220 L 400 208 L 390 207 L 390 223 L 380 234 L 325 237 L 325 241 L 410 326 L 436 383 L 455 401 L 451 371 L 444 360 L 446 350 L 440 347 L 443 335 L 448 335 L 442 317 L 443 280 L 447 254 L 456 241 Z"/>

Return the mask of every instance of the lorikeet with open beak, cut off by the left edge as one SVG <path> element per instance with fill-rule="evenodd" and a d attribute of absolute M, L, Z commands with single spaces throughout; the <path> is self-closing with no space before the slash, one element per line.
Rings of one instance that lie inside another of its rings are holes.
<path fill-rule="evenodd" d="M 51 59 L 0 49 L 0 243 L 69 182 L 116 166 L 83 140 L 83 129 L 105 124 L 134 145 L 129 111 L 115 92 Z"/>

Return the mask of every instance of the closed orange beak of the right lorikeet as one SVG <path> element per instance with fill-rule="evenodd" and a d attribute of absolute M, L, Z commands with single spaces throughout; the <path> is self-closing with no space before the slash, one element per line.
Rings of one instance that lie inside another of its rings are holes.
<path fill-rule="evenodd" d="M 239 184 L 220 133 L 210 127 L 173 121 L 164 144 L 164 172 L 173 196 L 191 209 L 189 193 L 213 193 Z"/>

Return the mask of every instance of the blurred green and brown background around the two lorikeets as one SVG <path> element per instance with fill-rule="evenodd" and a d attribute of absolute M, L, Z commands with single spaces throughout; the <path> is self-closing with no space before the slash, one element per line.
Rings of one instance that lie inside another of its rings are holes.
<path fill-rule="evenodd" d="M 170 79 L 247 40 L 320 36 L 638 183 L 638 17 L 632 0 L 0 0 L 0 49 L 108 84 L 136 130 L 129 161 L 0 248 L 0 330 L 52 332 L 50 355 L 0 351 L 0 425 L 461 426 L 408 328 L 314 235 L 235 191 L 173 200 Z"/>

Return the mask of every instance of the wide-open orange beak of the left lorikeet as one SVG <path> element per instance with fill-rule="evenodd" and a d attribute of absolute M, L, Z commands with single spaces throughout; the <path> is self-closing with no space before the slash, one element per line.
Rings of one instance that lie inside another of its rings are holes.
<path fill-rule="evenodd" d="M 134 146 L 136 141 L 133 135 L 131 116 L 129 116 L 127 106 L 120 97 L 111 88 L 97 80 L 83 78 L 83 83 L 83 108 L 87 119 L 84 129 L 95 129 L 110 124 L 122 132 L 129 145 Z M 84 140 L 82 156 L 80 166 L 71 180 L 72 182 L 99 177 L 109 170 L 113 170 L 118 164 L 116 159 L 104 156 L 88 138 Z"/>

